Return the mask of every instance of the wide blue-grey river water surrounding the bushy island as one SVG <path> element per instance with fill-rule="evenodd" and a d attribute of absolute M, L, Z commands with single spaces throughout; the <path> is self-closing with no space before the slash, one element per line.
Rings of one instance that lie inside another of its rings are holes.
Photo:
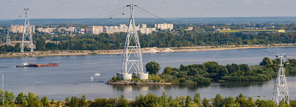
<path fill-rule="evenodd" d="M 256 49 L 273 53 L 284 52 L 287 56 L 296 55 L 295 47 Z M 167 66 L 179 68 L 181 64 L 202 64 L 207 61 L 216 61 L 221 65 L 232 63 L 258 65 L 264 57 L 276 58 L 275 54 L 266 55 L 251 52 L 254 50 L 246 50 L 249 49 L 145 53 L 142 56 L 144 65 L 150 61 L 157 61 L 160 64 L 161 72 Z M 86 95 L 87 98 L 94 100 L 94 97 L 120 97 L 121 94 L 125 95 L 129 100 L 133 100 L 136 96 L 147 94 L 148 92 L 160 96 L 163 90 L 165 90 L 167 95 L 172 95 L 174 98 L 176 95 L 190 95 L 193 97 L 197 91 L 202 98 L 214 98 L 217 93 L 223 97 L 228 97 L 229 95 L 236 97 L 239 93 L 242 93 L 244 96 L 253 96 L 254 99 L 272 100 L 275 84 L 275 80 L 269 80 L 255 82 L 215 82 L 210 85 L 108 85 L 104 82 L 116 76 L 116 72 L 120 72 L 122 54 L 0 59 L 2 62 L 0 72 L 5 74 L 5 89 L 13 91 L 16 96 L 20 92 L 24 92 L 24 94 L 33 92 L 35 95 L 40 95 L 41 97 L 47 96 L 49 99 L 54 98 L 54 100 L 65 100 L 65 97 L 71 97 L 73 95 L 78 97 Z M 14 67 L 25 60 L 32 64 L 59 63 L 59 66 Z M 101 75 L 95 76 L 94 74 L 96 73 Z M 91 77 L 93 77 L 93 80 L 91 80 Z M 288 76 L 287 80 L 290 98 L 295 99 L 296 78 Z"/>

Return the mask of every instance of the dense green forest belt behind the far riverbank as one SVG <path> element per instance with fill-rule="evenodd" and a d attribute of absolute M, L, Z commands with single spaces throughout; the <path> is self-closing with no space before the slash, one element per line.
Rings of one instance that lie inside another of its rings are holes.
<path fill-rule="evenodd" d="M 216 25 L 216 24 L 208 24 Z M 178 33 L 174 34 L 168 30 L 163 32 L 153 32 L 151 34 L 142 34 L 138 31 L 140 44 L 142 48 L 145 47 L 188 47 L 188 46 L 226 46 L 226 45 L 267 45 L 280 43 L 296 43 L 295 33 L 259 33 L 259 34 L 243 34 L 243 33 L 200 33 L 201 31 L 213 31 L 218 28 L 239 29 L 240 27 L 263 27 L 268 24 L 240 24 L 240 25 L 226 25 L 218 24 L 220 27 L 198 27 L 197 25 L 189 25 L 193 30 L 185 30 L 188 25 L 178 25 L 175 29 Z M 78 25 L 83 28 L 84 25 Z M 272 29 L 290 29 L 295 28 L 295 24 L 289 25 L 274 25 Z M 4 29 L 0 30 L 0 42 L 6 41 L 6 33 Z M 47 50 L 115 50 L 123 49 L 126 39 L 125 32 L 118 33 L 100 33 L 100 34 L 77 34 L 71 36 L 69 33 L 61 33 L 56 31 L 54 35 L 41 33 L 36 30 L 33 34 L 33 43 L 36 45 L 36 51 Z M 194 35 L 193 38 L 190 36 Z M 12 41 L 21 40 L 22 35 L 18 33 L 11 33 Z M 46 42 L 49 40 L 49 42 Z M 3 46 L 1 46 L 3 47 Z M 3 51 L 4 52 L 4 51 Z M 13 52 L 7 50 L 6 52 Z M 14 50 L 14 52 L 17 52 Z"/>

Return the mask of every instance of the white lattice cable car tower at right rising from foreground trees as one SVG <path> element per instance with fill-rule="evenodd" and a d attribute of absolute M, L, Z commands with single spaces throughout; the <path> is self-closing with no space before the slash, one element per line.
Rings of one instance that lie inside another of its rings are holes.
<path fill-rule="evenodd" d="M 284 64 L 282 64 L 282 57 L 286 57 L 286 54 L 276 54 L 276 57 L 280 57 L 279 72 L 276 77 L 276 84 L 274 85 L 274 102 L 278 106 L 281 101 L 289 104 L 290 98 L 287 78 L 283 69 Z M 287 64 L 289 63 L 287 62 Z"/>

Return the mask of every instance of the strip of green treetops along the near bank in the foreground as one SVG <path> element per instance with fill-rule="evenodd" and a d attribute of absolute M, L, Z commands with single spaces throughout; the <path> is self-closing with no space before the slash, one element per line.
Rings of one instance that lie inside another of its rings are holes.
<path fill-rule="evenodd" d="M 65 100 L 55 101 L 52 98 L 49 101 L 46 96 L 40 98 L 40 95 L 35 96 L 30 92 L 25 95 L 21 92 L 17 96 L 8 90 L 1 89 L 0 92 L 5 96 L 4 100 L 1 97 L 4 107 L 277 107 L 272 100 L 259 98 L 254 100 L 253 97 L 246 97 L 242 93 L 234 98 L 216 94 L 215 98 L 203 98 L 203 100 L 197 92 L 194 95 L 181 95 L 173 98 L 172 95 L 165 95 L 163 91 L 160 97 L 148 92 L 146 95 L 136 96 L 134 100 L 127 100 L 124 95 L 109 99 L 95 97 L 94 100 L 87 100 L 85 95 L 81 95 L 81 98 L 71 96 L 71 98 L 66 97 Z M 280 102 L 278 107 L 295 106 L 296 101 L 291 100 L 289 104 Z"/>

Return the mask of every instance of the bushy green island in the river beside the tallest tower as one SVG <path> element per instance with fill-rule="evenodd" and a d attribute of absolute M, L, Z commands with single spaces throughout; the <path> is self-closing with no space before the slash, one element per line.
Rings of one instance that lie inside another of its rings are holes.
<path fill-rule="evenodd" d="M 287 59 L 290 63 L 284 64 L 285 74 L 296 73 L 296 59 Z M 271 60 L 263 58 L 259 65 L 248 66 L 247 64 L 219 65 L 209 61 L 203 64 L 180 65 L 180 68 L 165 67 L 162 73 L 159 64 L 149 62 L 146 71 L 149 72 L 148 80 L 140 80 L 132 77 L 132 80 L 121 80 L 113 77 L 107 84 L 137 85 L 137 84 L 211 84 L 211 80 L 219 81 L 266 81 L 274 79 L 279 70 L 280 59 Z"/>

